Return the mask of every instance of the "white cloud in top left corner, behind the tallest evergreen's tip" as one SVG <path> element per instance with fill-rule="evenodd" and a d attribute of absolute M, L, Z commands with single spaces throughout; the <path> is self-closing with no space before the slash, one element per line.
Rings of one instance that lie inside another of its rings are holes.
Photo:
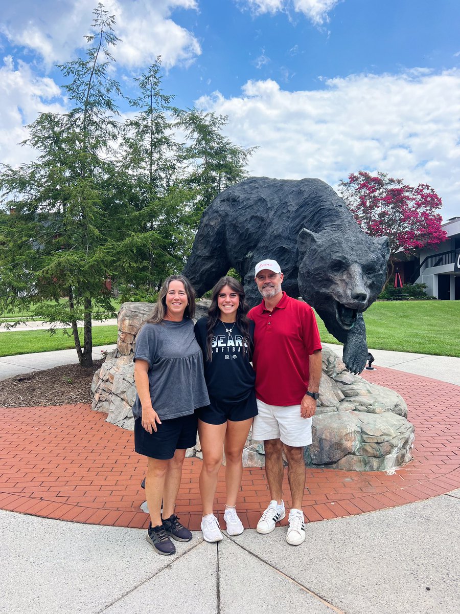
<path fill-rule="evenodd" d="M 38 53 L 50 68 L 85 45 L 95 5 L 95 0 L 18 0 L 2 6 L 0 32 L 12 44 Z M 197 0 L 105 0 L 104 5 L 117 18 L 115 34 L 123 42 L 114 55 L 122 65 L 145 66 L 161 55 L 163 65 L 171 68 L 201 53 L 193 33 L 171 18 L 176 8 L 197 10 Z"/>

